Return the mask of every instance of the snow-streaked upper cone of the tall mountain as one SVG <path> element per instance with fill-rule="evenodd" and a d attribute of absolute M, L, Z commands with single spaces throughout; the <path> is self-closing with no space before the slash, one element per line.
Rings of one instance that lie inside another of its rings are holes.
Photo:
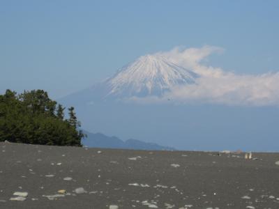
<path fill-rule="evenodd" d="M 121 68 L 105 81 L 106 97 L 162 96 L 177 85 L 193 84 L 198 75 L 168 61 L 165 56 L 146 55 Z"/>

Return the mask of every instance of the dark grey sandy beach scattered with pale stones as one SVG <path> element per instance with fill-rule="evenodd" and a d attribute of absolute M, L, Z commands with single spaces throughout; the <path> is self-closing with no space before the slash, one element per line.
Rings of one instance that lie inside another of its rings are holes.
<path fill-rule="evenodd" d="M 252 157 L 0 143 L 0 208 L 279 208 L 279 153 Z"/>

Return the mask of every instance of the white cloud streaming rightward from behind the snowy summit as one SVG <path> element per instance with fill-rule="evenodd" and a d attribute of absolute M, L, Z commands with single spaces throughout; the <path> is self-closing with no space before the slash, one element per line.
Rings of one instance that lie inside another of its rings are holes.
<path fill-rule="evenodd" d="M 169 52 L 158 52 L 169 61 L 197 72 L 200 77 L 196 84 L 174 87 L 171 93 L 162 99 L 171 98 L 179 102 L 204 102 L 228 105 L 266 106 L 279 104 L 279 72 L 262 75 L 237 75 L 202 63 L 213 53 L 222 53 L 224 49 L 214 46 L 202 48 L 175 47 Z"/>

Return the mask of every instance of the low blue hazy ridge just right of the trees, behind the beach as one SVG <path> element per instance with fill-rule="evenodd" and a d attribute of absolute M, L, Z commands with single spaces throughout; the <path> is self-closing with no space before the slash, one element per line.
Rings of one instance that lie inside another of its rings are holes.
<path fill-rule="evenodd" d="M 136 139 L 128 139 L 123 141 L 117 137 L 108 137 L 105 134 L 90 133 L 84 131 L 87 135 L 86 139 L 82 139 L 83 146 L 97 148 L 119 148 L 131 150 L 175 150 L 167 146 L 160 146 L 155 143 L 147 143 Z"/>

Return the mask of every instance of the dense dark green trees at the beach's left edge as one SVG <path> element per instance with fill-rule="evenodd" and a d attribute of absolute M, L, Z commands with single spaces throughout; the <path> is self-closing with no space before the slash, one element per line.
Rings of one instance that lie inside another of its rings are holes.
<path fill-rule="evenodd" d="M 0 95 L 0 141 L 59 146 L 81 146 L 84 134 L 75 109 L 51 100 L 43 90 Z"/>

